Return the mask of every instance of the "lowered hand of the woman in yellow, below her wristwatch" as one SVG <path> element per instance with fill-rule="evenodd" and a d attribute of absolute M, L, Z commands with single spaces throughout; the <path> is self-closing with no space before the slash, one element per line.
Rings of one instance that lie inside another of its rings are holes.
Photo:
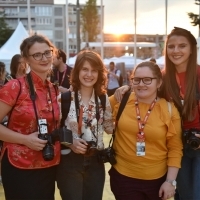
<path fill-rule="evenodd" d="M 167 200 L 173 197 L 175 194 L 175 187 L 168 182 L 164 182 L 159 190 L 159 197 L 162 197 L 163 200 Z"/>

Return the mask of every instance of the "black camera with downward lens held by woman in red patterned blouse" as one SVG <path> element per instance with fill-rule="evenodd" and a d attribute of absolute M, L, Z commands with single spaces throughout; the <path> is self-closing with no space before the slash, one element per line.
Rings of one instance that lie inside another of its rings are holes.
<path fill-rule="evenodd" d="M 46 119 L 39 120 L 40 134 L 38 138 L 41 140 L 47 140 L 45 147 L 42 150 L 42 156 L 44 160 L 50 161 L 54 158 L 54 147 L 56 141 L 60 141 L 61 144 L 72 144 L 72 131 L 66 127 L 55 129 L 51 134 L 48 134 Z"/>

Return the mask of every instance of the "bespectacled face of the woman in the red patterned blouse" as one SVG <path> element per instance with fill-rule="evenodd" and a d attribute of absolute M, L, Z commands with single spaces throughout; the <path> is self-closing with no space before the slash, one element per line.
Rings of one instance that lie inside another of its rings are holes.
<path fill-rule="evenodd" d="M 46 58 L 46 56 L 43 55 L 41 60 L 35 60 L 31 55 L 36 53 L 44 53 L 49 50 L 51 50 L 51 48 L 46 43 L 38 42 L 35 42 L 29 49 L 29 56 L 26 58 L 26 62 L 29 64 L 31 70 L 38 75 L 48 74 L 52 65 L 53 56 Z"/>

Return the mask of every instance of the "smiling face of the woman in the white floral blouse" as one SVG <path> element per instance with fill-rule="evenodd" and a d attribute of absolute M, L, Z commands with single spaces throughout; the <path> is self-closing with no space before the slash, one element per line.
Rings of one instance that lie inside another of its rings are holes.
<path fill-rule="evenodd" d="M 93 88 L 98 79 L 98 70 L 91 66 L 88 61 L 85 61 L 79 71 L 79 80 L 81 89 Z"/>

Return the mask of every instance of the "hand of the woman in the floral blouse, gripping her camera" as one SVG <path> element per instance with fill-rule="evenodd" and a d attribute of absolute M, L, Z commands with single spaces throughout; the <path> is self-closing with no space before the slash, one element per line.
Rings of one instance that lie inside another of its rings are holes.
<path fill-rule="evenodd" d="M 83 139 L 73 139 L 73 144 L 69 147 L 74 153 L 85 154 L 87 151 L 87 145 L 87 142 Z"/>

